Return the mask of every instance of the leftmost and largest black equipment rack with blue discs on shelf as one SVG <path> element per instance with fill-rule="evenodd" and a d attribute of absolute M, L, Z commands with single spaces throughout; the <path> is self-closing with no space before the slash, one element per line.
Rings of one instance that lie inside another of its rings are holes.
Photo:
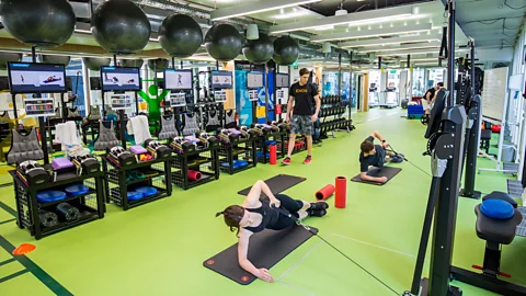
<path fill-rule="evenodd" d="M 14 183 L 14 198 L 18 212 L 16 225 L 20 229 L 28 229 L 31 236 L 34 236 L 37 240 L 79 225 L 104 218 L 105 207 L 102 171 L 83 175 L 77 175 L 75 173 L 59 174 L 56 180 L 50 179 L 49 182 L 37 185 L 26 185 L 18 177 L 16 170 L 9 171 L 9 173 L 13 178 Z M 39 203 L 36 198 L 36 194 L 41 191 L 64 191 L 65 187 L 72 184 L 84 184 L 90 187 L 90 191 L 84 194 L 67 196 L 64 200 L 45 204 Z M 41 224 L 39 210 L 55 212 L 57 205 L 60 203 L 69 203 L 77 207 L 81 213 L 80 218 L 72 221 L 59 221 L 53 227 L 44 227 Z"/>

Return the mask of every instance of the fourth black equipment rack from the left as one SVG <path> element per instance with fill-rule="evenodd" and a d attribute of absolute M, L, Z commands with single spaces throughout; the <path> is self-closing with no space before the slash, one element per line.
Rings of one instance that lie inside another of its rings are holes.
<path fill-rule="evenodd" d="M 255 168 L 258 164 L 258 158 L 255 156 L 256 140 L 258 138 L 250 137 L 248 139 L 240 139 L 233 143 L 221 141 L 218 150 L 220 170 L 226 171 L 229 174 L 235 174 L 251 168 Z M 241 168 L 236 168 L 235 160 L 239 160 L 240 157 L 249 162 L 249 164 Z"/>

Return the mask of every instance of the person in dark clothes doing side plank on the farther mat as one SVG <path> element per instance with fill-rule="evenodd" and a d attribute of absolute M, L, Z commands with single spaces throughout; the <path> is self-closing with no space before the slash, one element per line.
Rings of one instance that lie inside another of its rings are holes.
<path fill-rule="evenodd" d="M 375 138 L 381 141 L 381 145 L 375 145 Z M 381 168 L 384 163 L 390 162 L 401 162 L 403 156 L 396 155 L 392 151 L 388 151 L 389 143 L 387 143 L 384 137 L 378 134 L 378 132 L 373 132 L 359 146 L 362 150 L 359 153 L 359 178 L 364 181 L 371 181 L 378 183 L 386 183 L 387 177 L 370 177 L 367 175 L 369 166 Z"/>

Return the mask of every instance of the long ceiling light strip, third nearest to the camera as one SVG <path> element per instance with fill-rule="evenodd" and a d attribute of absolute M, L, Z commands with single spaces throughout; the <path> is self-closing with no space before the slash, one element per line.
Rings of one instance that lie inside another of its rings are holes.
<path fill-rule="evenodd" d="M 418 32 L 418 31 L 427 31 L 431 29 L 430 23 L 414 25 L 411 27 L 408 26 L 400 26 L 400 27 L 386 27 L 381 30 L 368 30 L 361 33 L 334 33 L 334 34 L 323 34 L 323 35 L 316 35 L 310 38 L 311 42 L 324 42 L 324 41 L 343 41 L 343 39 L 354 39 L 354 38 L 363 38 L 363 37 L 375 37 L 375 36 L 388 36 L 388 35 L 398 35 L 409 32 Z"/>

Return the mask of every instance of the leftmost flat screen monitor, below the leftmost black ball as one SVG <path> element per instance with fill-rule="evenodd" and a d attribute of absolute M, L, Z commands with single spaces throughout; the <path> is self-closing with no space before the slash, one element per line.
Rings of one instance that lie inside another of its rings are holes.
<path fill-rule="evenodd" d="M 11 93 L 66 92 L 66 69 L 58 64 L 8 62 Z"/>

